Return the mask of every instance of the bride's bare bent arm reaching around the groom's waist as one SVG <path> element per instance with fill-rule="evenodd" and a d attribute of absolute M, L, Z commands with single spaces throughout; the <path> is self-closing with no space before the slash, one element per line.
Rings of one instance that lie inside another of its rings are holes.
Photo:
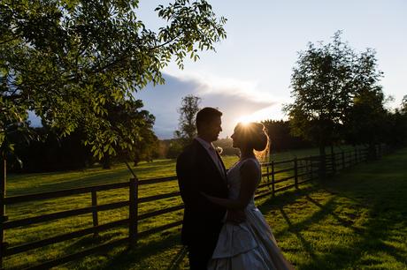
<path fill-rule="evenodd" d="M 242 164 L 241 172 L 241 190 L 237 199 L 222 199 L 204 194 L 211 202 L 224 206 L 227 209 L 244 209 L 249 204 L 257 187 L 257 165 L 254 161 L 246 161 Z"/>

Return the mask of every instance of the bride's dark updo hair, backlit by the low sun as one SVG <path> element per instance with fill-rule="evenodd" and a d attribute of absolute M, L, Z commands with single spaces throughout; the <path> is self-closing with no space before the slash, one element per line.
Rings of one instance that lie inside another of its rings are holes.
<path fill-rule="evenodd" d="M 263 124 L 256 122 L 239 123 L 236 125 L 236 131 L 239 132 L 247 146 L 257 151 L 257 158 L 265 159 L 269 149 L 269 138 Z"/>

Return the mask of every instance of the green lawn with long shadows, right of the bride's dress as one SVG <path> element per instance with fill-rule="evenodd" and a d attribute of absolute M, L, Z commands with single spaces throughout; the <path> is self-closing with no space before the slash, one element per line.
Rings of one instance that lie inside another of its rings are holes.
<path fill-rule="evenodd" d="M 407 149 L 265 201 L 298 269 L 407 268 Z"/>

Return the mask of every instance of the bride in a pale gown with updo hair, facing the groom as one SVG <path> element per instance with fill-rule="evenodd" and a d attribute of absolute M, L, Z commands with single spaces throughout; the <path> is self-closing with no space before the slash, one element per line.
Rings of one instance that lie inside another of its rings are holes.
<path fill-rule="evenodd" d="M 228 199 L 204 196 L 227 209 L 243 210 L 246 221 L 224 224 L 208 269 L 294 269 L 282 256 L 272 230 L 254 203 L 261 180 L 254 150 L 264 151 L 268 146 L 265 127 L 258 123 L 237 124 L 232 139 L 233 146 L 241 150 L 241 158 L 227 172 Z"/>

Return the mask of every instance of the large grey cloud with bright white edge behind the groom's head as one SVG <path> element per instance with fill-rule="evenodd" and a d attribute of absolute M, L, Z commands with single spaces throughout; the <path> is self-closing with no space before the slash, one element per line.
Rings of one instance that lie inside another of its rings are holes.
<path fill-rule="evenodd" d="M 144 102 L 145 109 L 156 116 L 154 130 L 160 139 L 173 138 L 173 131 L 178 127 L 177 109 L 181 98 L 187 94 L 201 97 L 201 107 L 214 107 L 223 112 L 224 131 L 220 134 L 221 137 L 232 134 L 240 117 L 274 109 L 279 105 L 270 94 L 258 92 L 256 83 L 249 81 L 191 75 L 176 77 L 166 73 L 164 78 L 165 85 L 149 85 L 134 94 Z"/>

